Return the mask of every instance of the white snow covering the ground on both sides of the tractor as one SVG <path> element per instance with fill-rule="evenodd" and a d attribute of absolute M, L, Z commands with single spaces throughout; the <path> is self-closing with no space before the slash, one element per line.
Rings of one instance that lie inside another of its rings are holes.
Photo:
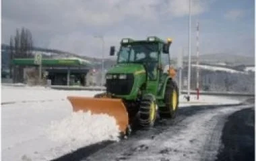
<path fill-rule="evenodd" d="M 92 97 L 98 91 L 57 91 L 44 87 L 1 87 L 2 160 L 51 160 L 102 140 L 117 140 L 108 115 L 72 113 L 67 95 Z M 230 104 L 222 97 L 180 97 L 180 107 Z M 4 104 L 5 103 L 5 104 Z"/>

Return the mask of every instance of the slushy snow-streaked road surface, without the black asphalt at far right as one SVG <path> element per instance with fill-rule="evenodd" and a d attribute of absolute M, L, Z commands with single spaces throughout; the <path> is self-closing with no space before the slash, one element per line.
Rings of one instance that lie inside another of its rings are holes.
<path fill-rule="evenodd" d="M 94 150 L 87 147 L 56 160 L 216 160 L 226 119 L 248 108 L 254 106 L 183 107 L 176 119 L 158 122 L 150 131 L 135 131 L 129 140 L 94 145 Z"/>

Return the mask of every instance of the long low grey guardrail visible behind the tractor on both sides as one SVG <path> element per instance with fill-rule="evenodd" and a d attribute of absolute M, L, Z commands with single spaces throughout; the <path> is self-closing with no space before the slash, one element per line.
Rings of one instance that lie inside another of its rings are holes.
<path fill-rule="evenodd" d="M 59 90 L 87 90 L 87 91 L 106 91 L 106 87 L 75 87 L 75 86 L 58 86 L 52 85 L 51 89 Z M 187 94 L 187 90 L 181 91 L 182 94 Z M 196 95 L 197 91 L 190 91 L 192 95 Z M 245 96 L 245 97 L 254 97 L 255 93 L 235 93 L 235 92 L 218 92 L 218 91 L 199 91 L 200 95 L 218 95 L 218 96 Z"/>

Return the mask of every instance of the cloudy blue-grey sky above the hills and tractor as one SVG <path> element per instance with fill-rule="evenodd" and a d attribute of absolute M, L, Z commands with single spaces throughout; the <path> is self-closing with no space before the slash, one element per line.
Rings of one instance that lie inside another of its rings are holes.
<path fill-rule="evenodd" d="M 192 0 L 191 53 L 196 53 L 199 21 L 200 54 L 254 56 L 253 0 Z M 188 47 L 189 0 L 2 0 L 2 43 L 16 28 L 28 28 L 34 46 L 84 56 L 105 55 L 121 38 L 172 38 L 170 52 Z M 188 50 L 185 55 L 188 54 Z"/>

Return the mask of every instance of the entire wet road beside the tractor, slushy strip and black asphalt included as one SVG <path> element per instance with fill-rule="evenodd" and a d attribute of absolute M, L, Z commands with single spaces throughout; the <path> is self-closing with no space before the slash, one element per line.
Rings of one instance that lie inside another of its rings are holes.
<path fill-rule="evenodd" d="M 175 119 L 129 139 L 80 148 L 55 160 L 254 160 L 254 102 L 183 107 Z"/>

